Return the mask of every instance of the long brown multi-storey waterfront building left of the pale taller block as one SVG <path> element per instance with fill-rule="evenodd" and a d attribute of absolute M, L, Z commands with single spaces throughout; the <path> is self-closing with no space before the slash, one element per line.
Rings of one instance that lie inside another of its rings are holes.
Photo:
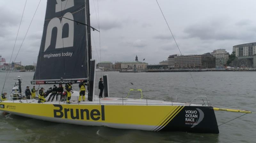
<path fill-rule="evenodd" d="M 210 53 L 202 55 L 181 55 L 174 58 L 174 68 L 215 68 L 215 57 Z"/>

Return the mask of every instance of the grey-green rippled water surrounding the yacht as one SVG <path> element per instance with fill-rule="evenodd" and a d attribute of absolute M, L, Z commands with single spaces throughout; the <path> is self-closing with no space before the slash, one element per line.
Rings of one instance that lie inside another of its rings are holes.
<path fill-rule="evenodd" d="M 0 73 L 0 90 L 4 84 L 5 74 Z M 13 78 L 18 75 L 23 78 L 22 90 L 24 91 L 25 87 L 30 85 L 33 74 L 33 72 L 10 73 L 4 92 L 10 93 L 15 82 Z M 104 74 L 108 74 L 109 92 L 112 97 L 126 97 L 129 89 L 142 89 L 144 98 L 167 101 L 190 102 L 198 95 L 205 95 L 212 106 L 250 110 L 254 113 L 219 126 L 219 134 L 148 132 L 103 126 L 80 126 L 0 113 L 0 142 L 256 142 L 256 72 L 192 72 L 196 85 L 188 72 L 97 72 L 95 94 L 99 94 L 98 79 Z M 40 87 L 49 88 L 50 86 L 52 85 Z M 78 85 L 74 84 L 73 89 L 78 90 Z M 140 93 L 133 92 L 131 96 L 139 98 Z M 243 113 L 215 111 L 215 114 L 220 125 Z"/>

